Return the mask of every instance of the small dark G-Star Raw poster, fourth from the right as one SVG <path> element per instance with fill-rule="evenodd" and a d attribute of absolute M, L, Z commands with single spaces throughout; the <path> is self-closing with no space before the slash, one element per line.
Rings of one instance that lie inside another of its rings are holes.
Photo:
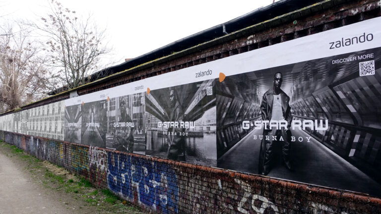
<path fill-rule="evenodd" d="M 107 105 L 107 100 L 82 105 L 81 144 L 106 148 Z"/>

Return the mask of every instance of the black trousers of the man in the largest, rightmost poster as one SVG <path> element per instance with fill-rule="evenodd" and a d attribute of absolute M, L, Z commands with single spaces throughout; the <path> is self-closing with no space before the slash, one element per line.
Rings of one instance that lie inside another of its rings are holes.
<path fill-rule="evenodd" d="M 267 134 L 269 139 L 266 139 L 266 145 L 265 145 L 265 153 L 264 153 L 264 160 L 263 160 L 263 166 L 268 167 L 270 165 L 270 162 L 272 160 L 272 156 L 274 153 L 274 144 L 276 142 L 279 142 L 282 144 L 282 156 L 283 160 L 285 162 L 290 160 L 290 152 L 291 152 L 291 131 L 290 130 L 284 130 L 284 128 L 280 130 L 272 130 L 268 132 Z M 275 139 L 273 139 L 273 136 Z M 266 138 L 266 136 L 263 136 Z M 281 137 L 283 139 L 281 139 Z"/>

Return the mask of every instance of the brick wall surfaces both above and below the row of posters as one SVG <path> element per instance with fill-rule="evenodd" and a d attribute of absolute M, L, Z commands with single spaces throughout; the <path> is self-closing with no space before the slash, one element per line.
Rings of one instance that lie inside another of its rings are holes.
<path fill-rule="evenodd" d="M 80 87 L 79 95 L 381 16 L 379 0 L 326 0 Z M 68 93 L 22 107 L 68 98 Z M 155 213 L 378 214 L 365 194 L 0 131 L 0 139 Z"/>

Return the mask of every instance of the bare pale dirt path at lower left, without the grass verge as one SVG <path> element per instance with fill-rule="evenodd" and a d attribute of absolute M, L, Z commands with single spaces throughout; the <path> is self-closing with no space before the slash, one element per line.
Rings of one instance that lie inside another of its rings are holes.
<path fill-rule="evenodd" d="M 21 165 L 0 153 L 0 214 L 66 214 L 68 209 L 34 183 Z"/>

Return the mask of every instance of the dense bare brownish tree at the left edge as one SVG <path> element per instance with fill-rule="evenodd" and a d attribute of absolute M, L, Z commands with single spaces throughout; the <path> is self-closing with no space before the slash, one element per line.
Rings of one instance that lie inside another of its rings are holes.
<path fill-rule="evenodd" d="M 20 25 L 1 27 L 0 37 L 0 111 L 18 108 L 45 96 L 49 73 L 40 55 L 40 43 L 31 31 Z"/>

